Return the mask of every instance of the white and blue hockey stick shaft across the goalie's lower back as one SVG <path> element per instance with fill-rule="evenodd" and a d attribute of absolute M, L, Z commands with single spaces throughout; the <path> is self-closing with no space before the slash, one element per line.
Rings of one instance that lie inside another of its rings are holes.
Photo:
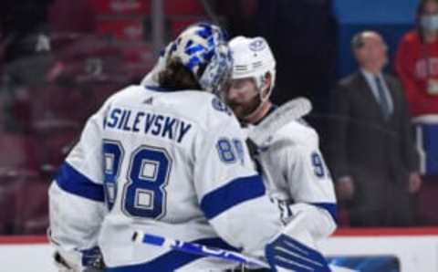
<path fill-rule="evenodd" d="M 147 244 L 152 246 L 162 246 L 166 248 L 172 248 L 174 250 L 182 251 L 189 254 L 200 256 L 212 256 L 220 259 L 224 259 L 230 262 L 244 264 L 248 267 L 269 267 L 269 265 L 255 257 L 245 256 L 235 251 L 226 250 L 213 246 L 203 246 L 191 242 L 183 242 L 180 240 L 173 240 L 171 238 L 163 237 L 160 235 L 145 234 L 141 231 L 134 232 L 132 235 L 132 241 L 137 244 Z"/>

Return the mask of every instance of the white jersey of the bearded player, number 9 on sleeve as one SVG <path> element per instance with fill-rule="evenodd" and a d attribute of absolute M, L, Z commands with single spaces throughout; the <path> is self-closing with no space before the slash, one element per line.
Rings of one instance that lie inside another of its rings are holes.
<path fill-rule="evenodd" d="M 292 214 L 305 212 L 304 227 L 315 241 L 333 233 L 336 195 L 314 129 L 291 120 L 259 148 L 256 158 L 268 194 L 288 204 Z"/>

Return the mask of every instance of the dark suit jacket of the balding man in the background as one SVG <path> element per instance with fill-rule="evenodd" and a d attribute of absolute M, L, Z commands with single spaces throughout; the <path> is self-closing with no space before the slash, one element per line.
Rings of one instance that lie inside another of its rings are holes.
<path fill-rule="evenodd" d="M 381 106 L 361 72 L 343 78 L 333 96 L 332 171 L 336 178 L 351 175 L 357 182 L 407 183 L 418 170 L 418 154 L 401 83 L 383 78 L 393 111 L 383 118 Z"/>

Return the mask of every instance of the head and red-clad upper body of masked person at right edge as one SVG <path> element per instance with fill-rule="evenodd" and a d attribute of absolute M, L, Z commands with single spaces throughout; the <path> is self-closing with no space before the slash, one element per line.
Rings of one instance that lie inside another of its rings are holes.
<path fill-rule="evenodd" d="M 395 69 L 412 116 L 438 114 L 438 0 L 421 0 L 416 29 L 401 39 Z"/>

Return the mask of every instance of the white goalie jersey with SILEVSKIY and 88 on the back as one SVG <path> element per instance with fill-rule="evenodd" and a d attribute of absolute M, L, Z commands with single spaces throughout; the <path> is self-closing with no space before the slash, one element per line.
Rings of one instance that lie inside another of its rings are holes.
<path fill-rule="evenodd" d="M 53 244 L 77 262 L 81 250 L 99 245 L 111 272 L 234 266 L 134 244 L 134 230 L 263 252 L 282 223 L 244 141 L 212 94 L 121 90 L 89 118 L 50 187 Z"/>

